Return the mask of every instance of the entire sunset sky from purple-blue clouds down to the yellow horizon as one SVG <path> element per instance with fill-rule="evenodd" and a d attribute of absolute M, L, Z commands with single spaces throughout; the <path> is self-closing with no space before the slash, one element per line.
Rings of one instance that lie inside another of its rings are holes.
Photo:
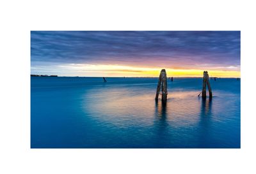
<path fill-rule="evenodd" d="M 31 74 L 240 76 L 240 31 L 31 31 Z"/>

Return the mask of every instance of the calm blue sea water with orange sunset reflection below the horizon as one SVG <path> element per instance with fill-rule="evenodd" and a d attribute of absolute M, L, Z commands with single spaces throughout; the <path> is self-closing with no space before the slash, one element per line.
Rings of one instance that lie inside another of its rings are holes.
<path fill-rule="evenodd" d="M 31 77 L 31 148 L 240 148 L 240 81 Z M 208 92 L 207 92 L 208 95 Z"/>

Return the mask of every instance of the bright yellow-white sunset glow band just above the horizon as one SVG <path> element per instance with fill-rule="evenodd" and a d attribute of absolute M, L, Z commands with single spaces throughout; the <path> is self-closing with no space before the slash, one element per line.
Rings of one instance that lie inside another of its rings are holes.
<path fill-rule="evenodd" d="M 240 71 L 220 70 L 214 68 L 205 69 L 175 69 L 164 67 L 137 67 L 118 64 L 65 64 L 58 66 L 62 70 L 72 72 L 77 76 L 159 76 L 161 69 L 166 69 L 168 76 L 177 77 L 201 77 L 203 71 L 208 71 L 210 76 L 216 77 L 240 77 Z M 228 68 L 227 68 L 228 69 Z"/>

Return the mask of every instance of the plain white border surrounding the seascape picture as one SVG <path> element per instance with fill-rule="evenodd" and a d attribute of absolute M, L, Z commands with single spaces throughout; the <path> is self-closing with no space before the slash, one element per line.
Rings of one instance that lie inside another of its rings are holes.
<path fill-rule="evenodd" d="M 255 16 L 253 1 L 1 1 L 0 173 L 255 173 Z M 241 31 L 241 149 L 30 149 L 31 30 Z"/>

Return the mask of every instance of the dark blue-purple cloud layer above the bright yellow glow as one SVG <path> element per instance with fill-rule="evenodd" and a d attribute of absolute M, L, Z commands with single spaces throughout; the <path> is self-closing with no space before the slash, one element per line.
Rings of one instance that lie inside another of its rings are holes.
<path fill-rule="evenodd" d="M 239 31 L 31 31 L 31 64 L 240 65 Z"/>

